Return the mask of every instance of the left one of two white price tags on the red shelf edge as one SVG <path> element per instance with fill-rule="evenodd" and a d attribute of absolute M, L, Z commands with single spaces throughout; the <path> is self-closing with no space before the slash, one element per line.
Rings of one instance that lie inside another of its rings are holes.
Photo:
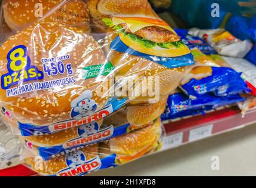
<path fill-rule="evenodd" d="M 162 145 L 164 148 L 171 148 L 182 144 L 183 132 L 169 135 L 163 138 Z"/>

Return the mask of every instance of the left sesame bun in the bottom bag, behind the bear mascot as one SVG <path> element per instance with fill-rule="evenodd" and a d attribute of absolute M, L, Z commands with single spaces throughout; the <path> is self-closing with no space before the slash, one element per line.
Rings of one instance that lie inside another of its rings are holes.
<path fill-rule="evenodd" d="M 31 151 L 31 149 L 29 150 L 30 156 L 26 157 L 25 164 L 39 174 L 45 176 L 54 176 L 59 172 L 59 170 L 68 167 L 66 162 L 67 156 L 65 155 L 56 157 L 55 159 L 43 161 L 38 157 L 36 149 L 33 150 L 34 151 Z M 93 159 L 95 156 L 97 156 L 98 144 L 84 147 L 81 149 L 81 152 L 84 153 L 87 160 Z"/>

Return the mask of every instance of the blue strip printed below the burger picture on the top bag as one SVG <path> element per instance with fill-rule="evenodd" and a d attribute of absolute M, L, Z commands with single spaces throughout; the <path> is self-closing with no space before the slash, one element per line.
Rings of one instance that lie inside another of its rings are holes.
<path fill-rule="evenodd" d="M 189 53 L 187 55 L 175 57 L 175 58 L 148 55 L 145 53 L 135 51 L 132 48 L 129 48 L 129 46 L 125 45 L 125 43 L 121 41 L 119 36 L 117 36 L 112 41 L 112 43 L 110 45 L 110 49 L 112 49 L 114 51 L 118 51 L 118 52 L 128 53 L 130 55 L 141 56 L 142 58 L 145 58 L 150 61 L 154 61 L 161 65 L 164 65 L 169 69 L 194 64 L 193 55 L 191 53 Z"/>

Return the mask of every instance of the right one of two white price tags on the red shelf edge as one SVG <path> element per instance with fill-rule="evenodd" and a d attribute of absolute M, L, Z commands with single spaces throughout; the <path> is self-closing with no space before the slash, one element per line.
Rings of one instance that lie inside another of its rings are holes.
<path fill-rule="evenodd" d="M 200 140 L 205 137 L 211 136 L 212 127 L 213 125 L 207 125 L 207 126 L 199 127 L 197 129 L 190 130 L 188 141 L 191 142 L 191 141 Z"/>

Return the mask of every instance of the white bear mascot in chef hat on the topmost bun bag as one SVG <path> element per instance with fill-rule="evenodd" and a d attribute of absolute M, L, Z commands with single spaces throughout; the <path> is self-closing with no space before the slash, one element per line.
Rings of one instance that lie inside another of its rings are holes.
<path fill-rule="evenodd" d="M 92 92 L 85 90 L 78 98 L 71 102 L 71 108 L 71 117 L 81 119 L 94 113 L 97 109 L 97 103 L 92 99 Z"/>

